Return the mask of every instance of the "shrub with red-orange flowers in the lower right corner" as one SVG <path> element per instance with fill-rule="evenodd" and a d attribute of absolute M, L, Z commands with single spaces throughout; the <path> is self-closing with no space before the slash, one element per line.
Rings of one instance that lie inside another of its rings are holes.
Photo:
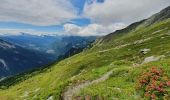
<path fill-rule="evenodd" d="M 137 89 L 148 99 L 166 99 L 170 94 L 170 78 L 164 74 L 162 68 L 152 67 L 139 76 Z"/>

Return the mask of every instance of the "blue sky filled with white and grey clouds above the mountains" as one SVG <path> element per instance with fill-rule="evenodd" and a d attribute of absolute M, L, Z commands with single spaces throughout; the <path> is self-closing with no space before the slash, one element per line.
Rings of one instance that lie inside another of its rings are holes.
<path fill-rule="evenodd" d="M 0 2 L 0 35 L 106 35 L 170 6 L 170 0 Z"/>

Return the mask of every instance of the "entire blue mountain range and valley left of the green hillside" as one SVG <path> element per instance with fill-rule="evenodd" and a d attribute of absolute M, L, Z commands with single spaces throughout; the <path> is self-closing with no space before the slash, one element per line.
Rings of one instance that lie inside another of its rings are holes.
<path fill-rule="evenodd" d="M 81 52 L 96 37 L 79 36 L 0 36 L 0 78 L 37 68 Z"/>

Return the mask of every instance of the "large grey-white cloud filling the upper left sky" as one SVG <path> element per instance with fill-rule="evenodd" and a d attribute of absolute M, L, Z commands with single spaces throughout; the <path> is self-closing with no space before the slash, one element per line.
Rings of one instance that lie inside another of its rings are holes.
<path fill-rule="evenodd" d="M 61 24 L 77 17 L 70 0 L 1 0 L 0 21 L 34 25 Z"/>

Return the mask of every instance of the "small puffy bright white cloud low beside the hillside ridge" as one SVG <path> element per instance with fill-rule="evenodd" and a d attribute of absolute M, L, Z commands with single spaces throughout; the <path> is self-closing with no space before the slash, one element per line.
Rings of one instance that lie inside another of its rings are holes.
<path fill-rule="evenodd" d="M 65 24 L 64 30 L 69 35 L 99 36 L 106 35 L 118 29 L 122 29 L 125 26 L 126 25 L 123 23 L 115 23 L 107 26 L 103 26 L 101 24 L 89 24 L 84 27 L 80 27 L 75 24 Z"/>

